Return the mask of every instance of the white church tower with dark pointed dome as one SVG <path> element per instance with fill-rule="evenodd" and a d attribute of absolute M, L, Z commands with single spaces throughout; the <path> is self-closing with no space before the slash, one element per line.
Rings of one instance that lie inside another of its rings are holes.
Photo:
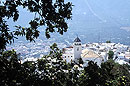
<path fill-rule="evenodd" d="M 74 52 L 74 60 L 77 60 L 81 57 L 82 46 L 81 46 L 81 40 L 78 37 L 74 40 L 73 52 Z"/>

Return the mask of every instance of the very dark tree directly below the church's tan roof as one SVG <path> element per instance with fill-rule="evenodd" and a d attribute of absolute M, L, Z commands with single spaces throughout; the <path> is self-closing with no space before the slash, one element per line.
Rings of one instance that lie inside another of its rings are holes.
<path fill-rule="evenodd" d="M 88 75 L 87 86 L 102 86 L 104 82 L 101 77 L 101 68 L 93 61 L 88 62 L 88 66 L 84 68 L 85 74 Z"/>

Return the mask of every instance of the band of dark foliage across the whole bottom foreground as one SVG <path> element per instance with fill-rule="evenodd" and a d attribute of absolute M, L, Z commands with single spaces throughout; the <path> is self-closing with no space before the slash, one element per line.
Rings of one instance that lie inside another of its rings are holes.
<path fill-rule="evenodd" d="M 0 86 L 129 86 L 128 65 L 108 60 L 99 67 L 90 61 L 77 67 L 61 58 L 56 44 L 42 59 L 21 63 L 14 50 L 0 56 Z"/>

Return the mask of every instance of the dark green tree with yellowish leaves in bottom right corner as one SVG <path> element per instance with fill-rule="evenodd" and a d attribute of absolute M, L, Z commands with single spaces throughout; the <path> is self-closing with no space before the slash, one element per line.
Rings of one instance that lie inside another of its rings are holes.
<path fill-rule="evenodd" d="M 115 63 L 110 59 L 101 64 L 102 78 L 105 80 L 103 86 L 129 86 L 130 73 L 127 67 Z"/>

